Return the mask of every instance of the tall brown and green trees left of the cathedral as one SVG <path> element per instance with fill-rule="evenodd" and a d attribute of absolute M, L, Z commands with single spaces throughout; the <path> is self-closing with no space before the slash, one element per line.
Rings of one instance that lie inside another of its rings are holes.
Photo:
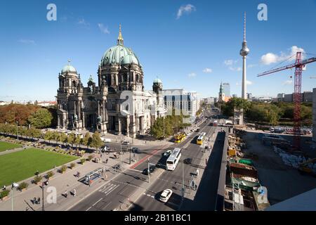
<path fill-rule="evenodd" d="M 51 127 L 55 124 L 57 113 L 55 107 L 42 108 L 33 104 L 14 104 L 0 106 L 0 123 L 20 126 L 31 125 L 35 128 Z"/>

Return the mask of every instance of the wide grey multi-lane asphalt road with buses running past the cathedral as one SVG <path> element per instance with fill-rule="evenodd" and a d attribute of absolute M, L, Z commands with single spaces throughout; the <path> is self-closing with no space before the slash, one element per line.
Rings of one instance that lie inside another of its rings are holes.
<path fill-rule="evenodd" d="M 210 113 L 206 113 L 210 115 Z M 209 126 L 210 120 L 206 120 L 200 125 L 200 131 L 205 131 L 206 136 L 213 133 L 216 127 Z M 130 210 L 179 210 L 181 205 L 181 188 L 182 188 L 182 174 L 185 174 L 185 183 L 188 185 L 190 180 L 190 173 L 194 172 L 203 158 L 201 146 L 196 144 L 197 132 L 192 132 L 182 143 L 174 143 L 169 148 L 148 148 L 141 150 L 138 158 L 140 160 L 138 165 L 133 169 L 126 169 L 124 173 L 119 174 L 115 179 L 112 179 L 110 183 L 106 184 L 102 188 L 98 189 L 95 193 L 88 196 L 88 198 L 82 200 L 80 203 L 72 207 L 72 211 L 110 211 L 119 209 L 122 205 L 129 204 L 129 197 L 136 191 L 140 191 L 143 195 L 131 205 Z M 183 165 L 179 162 L 174 171 L 166 171 L 165 169 L 156 169 L 154 174 L 150 176 L 150 188 L 146 191 L 140 185 L 144 182 L 148 182 L 148 176 L 142 174 L 143 169 L 147 168 L 147 158 L 150 158 L 150 163 L 157 164 L 161 161 L 162 153 L 166 149 L 173 149 L 175 147 L 182 149 L 182 157 L 192 158 L 191 165 Z M 220 160 L 219 160 L 220 161 Z M 219 162 L 220 163 L 220 162 Z M 205 162 L 202 162 L 202 166 L 205 167 Z M 183 172 L 182 172 L 183 171 Z M 161 203 L 159 198 L 160 193 L 165 188 L 171 188 L 173 195 L 168 203 Z M 217 188 L 217 186 L 216 186 Z M 216 189 L 217 190 L 217 189 Z M 198 190 L 199 191 L 199 190 Z M 190 204 L 189 204 L 190 205 Z"/>

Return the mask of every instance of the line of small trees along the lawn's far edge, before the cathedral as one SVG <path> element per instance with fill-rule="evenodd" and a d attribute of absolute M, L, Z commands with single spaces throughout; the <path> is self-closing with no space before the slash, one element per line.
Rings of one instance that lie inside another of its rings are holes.
<path fill-rule="evenodd" d="M 100 133 L 96 131 L 91 136 L 90 133 L 86 133 L 83 138 L 81 136 L 70 133 L 65 134 L 63 132 L 58 131 L 46 131 L 45 134 L 40 129 L 36 129 L 34 127 L 27 128 L 27 127 L 18 127 L 16 125 L 11 124 L 0 124 L 0 133 L 3 134 L 11 134 L 11 135 L 18 135 L 18 136 L 25 136 L 28 139 L 44 139 L 51 143 L 51 141 L 55 141 L 56 144 L 58 143 L 67 143 L 72 146 L 76 146 L 76 148 L 81 145 L 96 148 L 97 150 L 103 146 L 103 141 L 100 138 Z"/>

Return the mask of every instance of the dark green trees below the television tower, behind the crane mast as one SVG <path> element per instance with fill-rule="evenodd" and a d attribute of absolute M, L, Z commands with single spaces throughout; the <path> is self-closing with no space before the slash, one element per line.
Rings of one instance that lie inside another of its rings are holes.
<path fill-rule="evenodd" d="M 242 98 L 230 98 L 227 103 L 218 105 L 228 117 L 234 115 L 234 108 L 244 109 L 245 117 L 251 122 L 267 122 L 272 126 L 284 121 L 292 121 L 294 118 L 294 103 L 259 103 L 249 102 Z M 312 104 L 301 104 L 301 122 L 303 125 L 312 124 Z"/>

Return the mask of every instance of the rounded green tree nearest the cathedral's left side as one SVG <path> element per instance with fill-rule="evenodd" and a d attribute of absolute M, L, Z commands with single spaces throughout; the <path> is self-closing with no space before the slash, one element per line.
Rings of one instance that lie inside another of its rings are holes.
<path fill-rule="evenodd" d="M 27 122 L 29 122 L 29 124 L 39 129 L 50 127 L 52 120 L 53 116 L 46 108 L 37 110 L 27 118 Z"/>

